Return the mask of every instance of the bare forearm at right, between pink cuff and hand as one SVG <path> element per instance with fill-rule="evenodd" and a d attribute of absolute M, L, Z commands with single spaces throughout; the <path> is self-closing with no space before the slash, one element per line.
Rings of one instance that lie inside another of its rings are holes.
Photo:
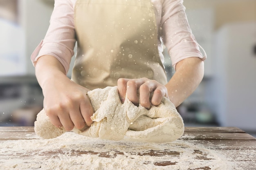
<path fill-rule="evenodd" d="M 204 75 L 204 62 L 198 57 L 189 57 L 176 64 L 176 72 L 166 84 L 168 96 L 179 106 L 195 91 Z"/>

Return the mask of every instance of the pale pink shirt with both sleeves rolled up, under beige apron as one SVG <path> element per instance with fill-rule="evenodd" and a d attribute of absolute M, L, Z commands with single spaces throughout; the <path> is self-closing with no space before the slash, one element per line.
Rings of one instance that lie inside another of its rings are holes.
<path fill-rule="evenodd" d="M 163 45 L 166 46 L 175 68 L 177 62 L 188 57 L 202 56 L 186 18 L 183 0 L 151 0 L 155 9 L 158 29 L 158 51 L 164 62 Z M 74 5 L 76 0 L 55 0 L 49 29 L 31 55 L 33 64 L 43 55 L 56 57 L 69 70 L 76 43 Z M 90 25 L 88 25 L 90 26 Z"/>

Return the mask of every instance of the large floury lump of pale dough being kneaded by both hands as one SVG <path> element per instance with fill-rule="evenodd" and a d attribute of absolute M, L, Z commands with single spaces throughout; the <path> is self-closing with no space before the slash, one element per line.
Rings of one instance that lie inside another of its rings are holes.
<path fill-rule="evenodd" d="M 94 89 L 88 92 L 94 114 L 89 128 L 72 131 L 77 134 L 99 139 L 121 140 L 125 136 L 135 141 L 171 142 L 184 133 L 184 123 L 175 106 L 166 97 L 159 106 L 148 110 L 135 106 L 126 97 L 124 104 L 119 99 L 117 86 Z M 50 139 L 65 132 L 56 128 L 41 110 L 35 121 L 35 132 L 40 137 Z"/>

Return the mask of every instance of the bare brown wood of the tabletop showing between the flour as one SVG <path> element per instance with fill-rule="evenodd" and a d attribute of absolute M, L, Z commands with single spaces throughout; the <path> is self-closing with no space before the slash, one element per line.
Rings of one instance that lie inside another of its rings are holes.
<path fill-rule="evenodd" d="M 0 127 L 0 145 L 4 141 L 16 141 L 16 140 L 41 140 L 34 132 L 34 127 Z M 205 149 L 214 150 L 220 155 L 225 155 L 231 160 L 234 160 L 238 165 L 235 169 L 237 170 L 256 170 L 256 138 L 247 134 L 245 131 L 236 127 L 186 127 L 184 135 L 179 139 L 180 141 L 186 141 L 194 145 L 203 146 Z M 132 143 L 118 143 L 115 141 L 116 145 L 126 145 L 130 146 Z M 104 147 L 104 144 L 95 144 L 98 148 Z M 132 146 L 130 146 L 132 147 Z M 0 149 L 4 149 L 1 148 Z M 110 151 L 90 151 L 78 150 L 75 146 L 70 148 L 56 148 L 47 152 L 40 152 L 40 150 L 34 149 L 27 153 L 23 153 L 19 156 L 18 152 L 0 152 L 0 163 L 7 159 L 33 159 L 35 153 L 42 156 L 43 159 L 49 158 L 54 159 L 60 157 L 60 155 L 65 155 L 67 152 L 69 156 L 79 156 L 79 155 L 97 155 L 98 157 L 105 157 L 113 159 L 118 155 L 124 155 L 125 152 L 119 150 L 114 151 L 113 154 L 109 154 Z M 180 157 L 182 153 L 174 150 L 148 150 L 147 152 L 130 152 L 130 155 L 136 154 L 139 156 L 150 156 L 150 157 L 168 157 L 164 161 L 144 161 L 144 164 L 153 163 L 155 166 L 174 166 L 178 162 L 172 161 L 171 157 Z M 201 161 L 207 163 L 211 162 L 212 158 L 209 157 L 203 150 L 194 150 L 195 161 Z M 249 155 L 248 157 L 238 157 L 238 155 Z M 191 160 L 193 161 L 193 160 Z M 240 165 L 240 166 L 239 166 Z M 38 168 L 40 169 L 40 168 Z M 187 170 L 211 170 L 210 166 L 199 166 L 194 169 L 188 168 Z"/>

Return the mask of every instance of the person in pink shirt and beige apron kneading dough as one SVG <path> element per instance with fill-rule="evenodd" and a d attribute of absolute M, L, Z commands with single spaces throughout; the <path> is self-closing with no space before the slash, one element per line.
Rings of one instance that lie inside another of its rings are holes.
<path fill-rule="evenodd" d="M 87 92 L 117 86 L 147 109 L 167 97 L 175 107 L 204 74 L 202 56 L 182 0 L 55 0 L 49 29 L 31 60 L 52 124 L 72 130 L 92 124 Z M 72 79 L 67 77 L 74 46 Z M 163 46 L 175 73 L 167 82 Z M 150 94 L 153 94 L 150 97 Z M 126 96 L 127 95 L 127 96 Z"/>

